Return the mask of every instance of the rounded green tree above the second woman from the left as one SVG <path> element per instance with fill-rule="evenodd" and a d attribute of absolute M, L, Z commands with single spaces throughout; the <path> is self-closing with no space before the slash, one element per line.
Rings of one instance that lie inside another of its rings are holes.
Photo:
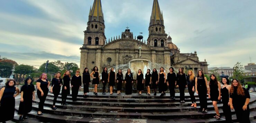
<path fill-rule="evenodd" d="M 25 78 L 26 74 L 30 74 L 34 72 L 34 66 L 20 64 L 15 67 L 15 73 L 19 74 L 20 82 L 22 78 Z"/>

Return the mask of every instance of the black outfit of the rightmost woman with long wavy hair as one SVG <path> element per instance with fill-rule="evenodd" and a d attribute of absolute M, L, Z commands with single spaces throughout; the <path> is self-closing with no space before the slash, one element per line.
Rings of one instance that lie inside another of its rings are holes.
<path fill-rule="evenodd" d="M 250 108 L 249 104 L 247 105 L 247 110 L 243 110 L 243 106 L 245 104 L 246 98 L 250 99 L 249 92 L 243 88 L 245 95 L 238 95 L 237 94 L 237 87 L 234 87 L 234 93 L 230 93 L 230 98 L 232 98 L 233 107 L 236 112 L 236 118 L 240 123 L 250 123 L 249 115 L 250 115 Z"/>

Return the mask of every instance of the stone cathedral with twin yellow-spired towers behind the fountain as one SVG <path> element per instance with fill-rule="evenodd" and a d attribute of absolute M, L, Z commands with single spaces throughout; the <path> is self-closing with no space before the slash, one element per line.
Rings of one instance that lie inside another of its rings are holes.
<path fill-rule="evenodd" d="M 80 71 L 87 67 L 91 72 L 94 66 L 98 66 L 101 72 L 104 67 L 111 68 L 119 64 L 127 64 L 132 59 L 140 58 L 138 49 L 140 45 L 141 57 L 153 63 L 173 66 L 175 69 L 183 68 L 184 71 L 190 69 L 195 74 L 198 70 L 208 73 L 206 60 L 199 61 L 196 51 L 180 53 L 180 49 L 172 42 L 170 35 L 167 37 L 158 0 L 153 2 L 147 41 L 136 39 L 128 28 L 118 37 L 107 40 L 104 33 L 102 6 L 104 5 L 101 4 L 101 0 L 94 0 L 90 8 L 87 28 L 84 31 L 84 42 L 80 48 Z"/>

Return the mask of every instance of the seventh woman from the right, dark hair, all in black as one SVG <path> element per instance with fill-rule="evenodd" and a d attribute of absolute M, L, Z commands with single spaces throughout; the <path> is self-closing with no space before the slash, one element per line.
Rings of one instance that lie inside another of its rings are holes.
<path fill-rule="evenodd" d="M 177 84 L 176 74 L 173 72 L 173 67 L 169 68 L 170 73 L 167 74 L 167 86 L 169 86 L 170 90 L 170 98 L 175 100 L 175 86 Z"/>

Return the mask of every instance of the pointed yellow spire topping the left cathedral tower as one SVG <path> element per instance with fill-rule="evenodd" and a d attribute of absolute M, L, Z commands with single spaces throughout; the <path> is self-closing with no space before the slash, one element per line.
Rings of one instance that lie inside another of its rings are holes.
<path fill-rule="evenodd" d="M 94 0 L 89 16 L 92 16 L 92 20 L 89 21 L 100 21 L 104 23 L 101 0 Z"/>

